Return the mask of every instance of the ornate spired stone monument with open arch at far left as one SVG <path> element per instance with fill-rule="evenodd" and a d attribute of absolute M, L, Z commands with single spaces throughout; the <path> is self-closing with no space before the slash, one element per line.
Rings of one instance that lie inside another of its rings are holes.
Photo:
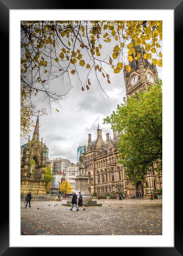
<path fill-rule="evenodd" d="M 22 151 L 21 158 L 21 193 L 31 191 L 32 194 L 46 195 L 45 167 L 46 167 L 46 145 L 39 141 L 39 116 L 32 140 L 28 140 L 27 146 Z M 34 159 L 35 168 L 30 168 L 30 161 Z"/>

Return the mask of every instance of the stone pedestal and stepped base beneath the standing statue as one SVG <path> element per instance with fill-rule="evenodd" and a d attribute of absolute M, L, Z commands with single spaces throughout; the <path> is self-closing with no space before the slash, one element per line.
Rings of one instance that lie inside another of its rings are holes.
<path fill-rule="evenodd" d="M 97 201 L 92 201 L 92 197 L 88 191 L 88 179 L 87 176 L 76 176 L 76 187 L 75 192 L 77 197 L 79 196 L 79 192 L 81 192 L 83 196 L 83 205 L 84 206 L 102 206 L 102 204 L 97 204 Z M 67 203 L 62 203 L 63 206 L 71 206 L 71 199 L 67 200 Z"/>

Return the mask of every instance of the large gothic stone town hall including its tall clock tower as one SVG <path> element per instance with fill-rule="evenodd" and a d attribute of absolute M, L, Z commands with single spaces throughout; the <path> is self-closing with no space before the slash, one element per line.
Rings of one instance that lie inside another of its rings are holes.
<path fill-rule="evenodd" d="M 156 66 L 149 63 L 147 59 L 143 58 L 145 50 L 141 46 L 133 46 L 136 54 L 141 53 L 138 60 L 129 62 L 131 72 L 124 70 L 124 81 L 126 87 L 126 97 L 133 94 L 137 97 L 137 92 L 142 90 L 146 92 L 148 86 L 156 83 L 158 77 Z M 134 56 L 133 56 L 134 59 Z M 106 134 L 106 141 L 102 139 L 102 130 L 97 129 L 97 139 L 91 141 L 91 134 L 88 134 L 88 147 L 85 157 L 88 160 L 87 176 L 88 189 L 92 193 L 110 193 L 116 195 L 118 192 L 130 196 L 137 191 L 146 197 L 150 191 L 156 192 L 162 189 L 162 177 L 159 177 L 154 170 L 156 163 L 153 164 L 147 176 L 138 181 L 136 184 L 134 178 L 128 179 L 122 164 L 118 163 L 118 147 L 117 141 L 120 134 L 113 131 L 113 138 L 110 134 Z"/>

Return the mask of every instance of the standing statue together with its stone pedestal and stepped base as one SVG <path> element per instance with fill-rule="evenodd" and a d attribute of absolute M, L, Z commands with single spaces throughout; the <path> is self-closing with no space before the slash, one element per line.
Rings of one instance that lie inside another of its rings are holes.
<path fill-rule="evenodd" d="M 79 195 L 79 192 L 81 192 L 82 196 L 83 196 L 83 205 L 84 206 L 102 206 L 102 204 L 97 204 L 97 201 L 92 201 L 92 197 L 88 191 L 88 179 L 89 177 L 84 175 L 84 169 L 86 168 L 86 164 L 85 164 L 85 158 L 83 156 L 83 153 L 81 154 L 81 156 L 79 157 L 79 164 L 77 167 L 77 176 L 75 178 L 76 181 L 76 187 L 75 187 L 75 192 L 76 195 Z M 62 203 L 62 205 L 64 206 L 71 206 L 71 200 L 67 200 L 67 203 Z"/>

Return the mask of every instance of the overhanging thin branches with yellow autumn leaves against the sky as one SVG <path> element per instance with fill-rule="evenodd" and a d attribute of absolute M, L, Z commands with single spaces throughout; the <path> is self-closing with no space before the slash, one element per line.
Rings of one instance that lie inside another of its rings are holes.
<path fill-rule="evenodd" d="M 135 45 L 143 45 L 143 58 L 152 59 L 162 67 L 162 21 L 22 21 L 21 22 L 21 130 L 26 136 L 34 125 L 32 117 L 40 110 L 34 99 L 37 94 L 51 104 L 59 104 L 72 88 L 72 77 L 77 76 L 82 91 L 89 90 L 93 75 L 100 88 L 101 79 L 111 84 L 110 75 L 118 74 L 125 64 L 138 59 Z M 105 50 L 103 50 L 105 49 Z M 111 72 L 106 70 L 111 67 Z M 82 81 L 80 72 L 85 69 Z M 58 90 L 51 82 L 57 79 Z M 60 85 L 68 79 L 70 87 L 60 93 Z M 76 80 L 75 80 L 76 83 Z M 105 90 L 103 90 L 105 92 Z M 59 112 L 59 109 L 56 109 Z"/>

